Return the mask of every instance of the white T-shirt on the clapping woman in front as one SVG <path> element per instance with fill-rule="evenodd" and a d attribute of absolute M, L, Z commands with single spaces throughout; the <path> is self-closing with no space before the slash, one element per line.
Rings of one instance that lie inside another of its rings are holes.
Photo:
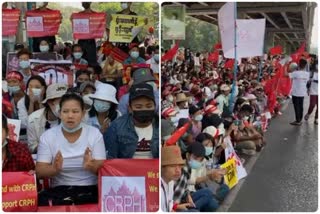
<path fill-rule="evenodd" d="M 97 176 L 83 168 L 83 157 L 87 147 L 91 150 L 93 159 L 106 159 L 102 134 L 95 127 L 83 124 L 81 135 L 74 143 L 69 143 L 64 137 L 61 125 L 43 133 L 40 137 L 37 161 L 52 163 L 59 150 L 63 157 L 62 171 L 52 179 L 53 187 L 97 184 Z"/>

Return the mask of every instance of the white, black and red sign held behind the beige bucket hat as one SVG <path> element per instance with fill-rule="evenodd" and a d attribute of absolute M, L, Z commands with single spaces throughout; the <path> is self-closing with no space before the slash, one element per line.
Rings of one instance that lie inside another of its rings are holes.
<path fill-rule="evenodd" d="M 73 73 L 70 69 L 72 62 L 69 60 L 45 61 L 31 59 L 33 75 L 43 77 L 47 85 L 52 83 L 64 83 L 73 86 Z"/>

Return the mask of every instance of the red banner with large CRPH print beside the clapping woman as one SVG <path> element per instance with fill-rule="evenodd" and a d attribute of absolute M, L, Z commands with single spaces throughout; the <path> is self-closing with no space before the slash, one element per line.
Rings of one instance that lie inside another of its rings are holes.
<path fill-rule="evenodd" d="M 99 171 L 102 212 L 157 212 L 159 160 L 114 159 Z"/>

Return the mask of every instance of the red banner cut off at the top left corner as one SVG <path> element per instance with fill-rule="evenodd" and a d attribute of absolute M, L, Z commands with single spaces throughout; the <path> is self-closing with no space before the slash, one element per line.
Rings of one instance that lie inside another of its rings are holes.
<path fill-rule="evenodd" d="M 2 9 L 2 36 L 16 35 L 19 25 L 20 10 Z"/>

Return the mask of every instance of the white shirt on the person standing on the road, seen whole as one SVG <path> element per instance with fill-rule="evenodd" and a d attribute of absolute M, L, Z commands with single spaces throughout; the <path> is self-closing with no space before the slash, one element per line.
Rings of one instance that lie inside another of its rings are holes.
<path fill-rule="evenodd" d="M 289 77 L 292 79 L 292 96 L 306 96 L 309 73 L 306 71 L 294 71 L 292 73 L 289 73 Z"/>

